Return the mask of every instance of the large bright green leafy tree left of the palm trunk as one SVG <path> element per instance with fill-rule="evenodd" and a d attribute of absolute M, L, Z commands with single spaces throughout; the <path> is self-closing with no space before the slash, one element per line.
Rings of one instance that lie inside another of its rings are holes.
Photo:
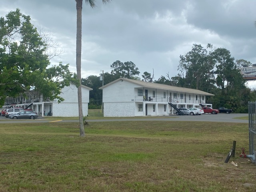
<path fill-rule="evenodd" d="M 30 23 L 30 16 L 19 9 L 0 18 L 0 106 L 6 96 L 16 97 L 30 90 L 40 92 L 44 99 L 58 96 L 70 81 L 76 83 L 68 65 L 49 67 L 48 44 Z"/>

